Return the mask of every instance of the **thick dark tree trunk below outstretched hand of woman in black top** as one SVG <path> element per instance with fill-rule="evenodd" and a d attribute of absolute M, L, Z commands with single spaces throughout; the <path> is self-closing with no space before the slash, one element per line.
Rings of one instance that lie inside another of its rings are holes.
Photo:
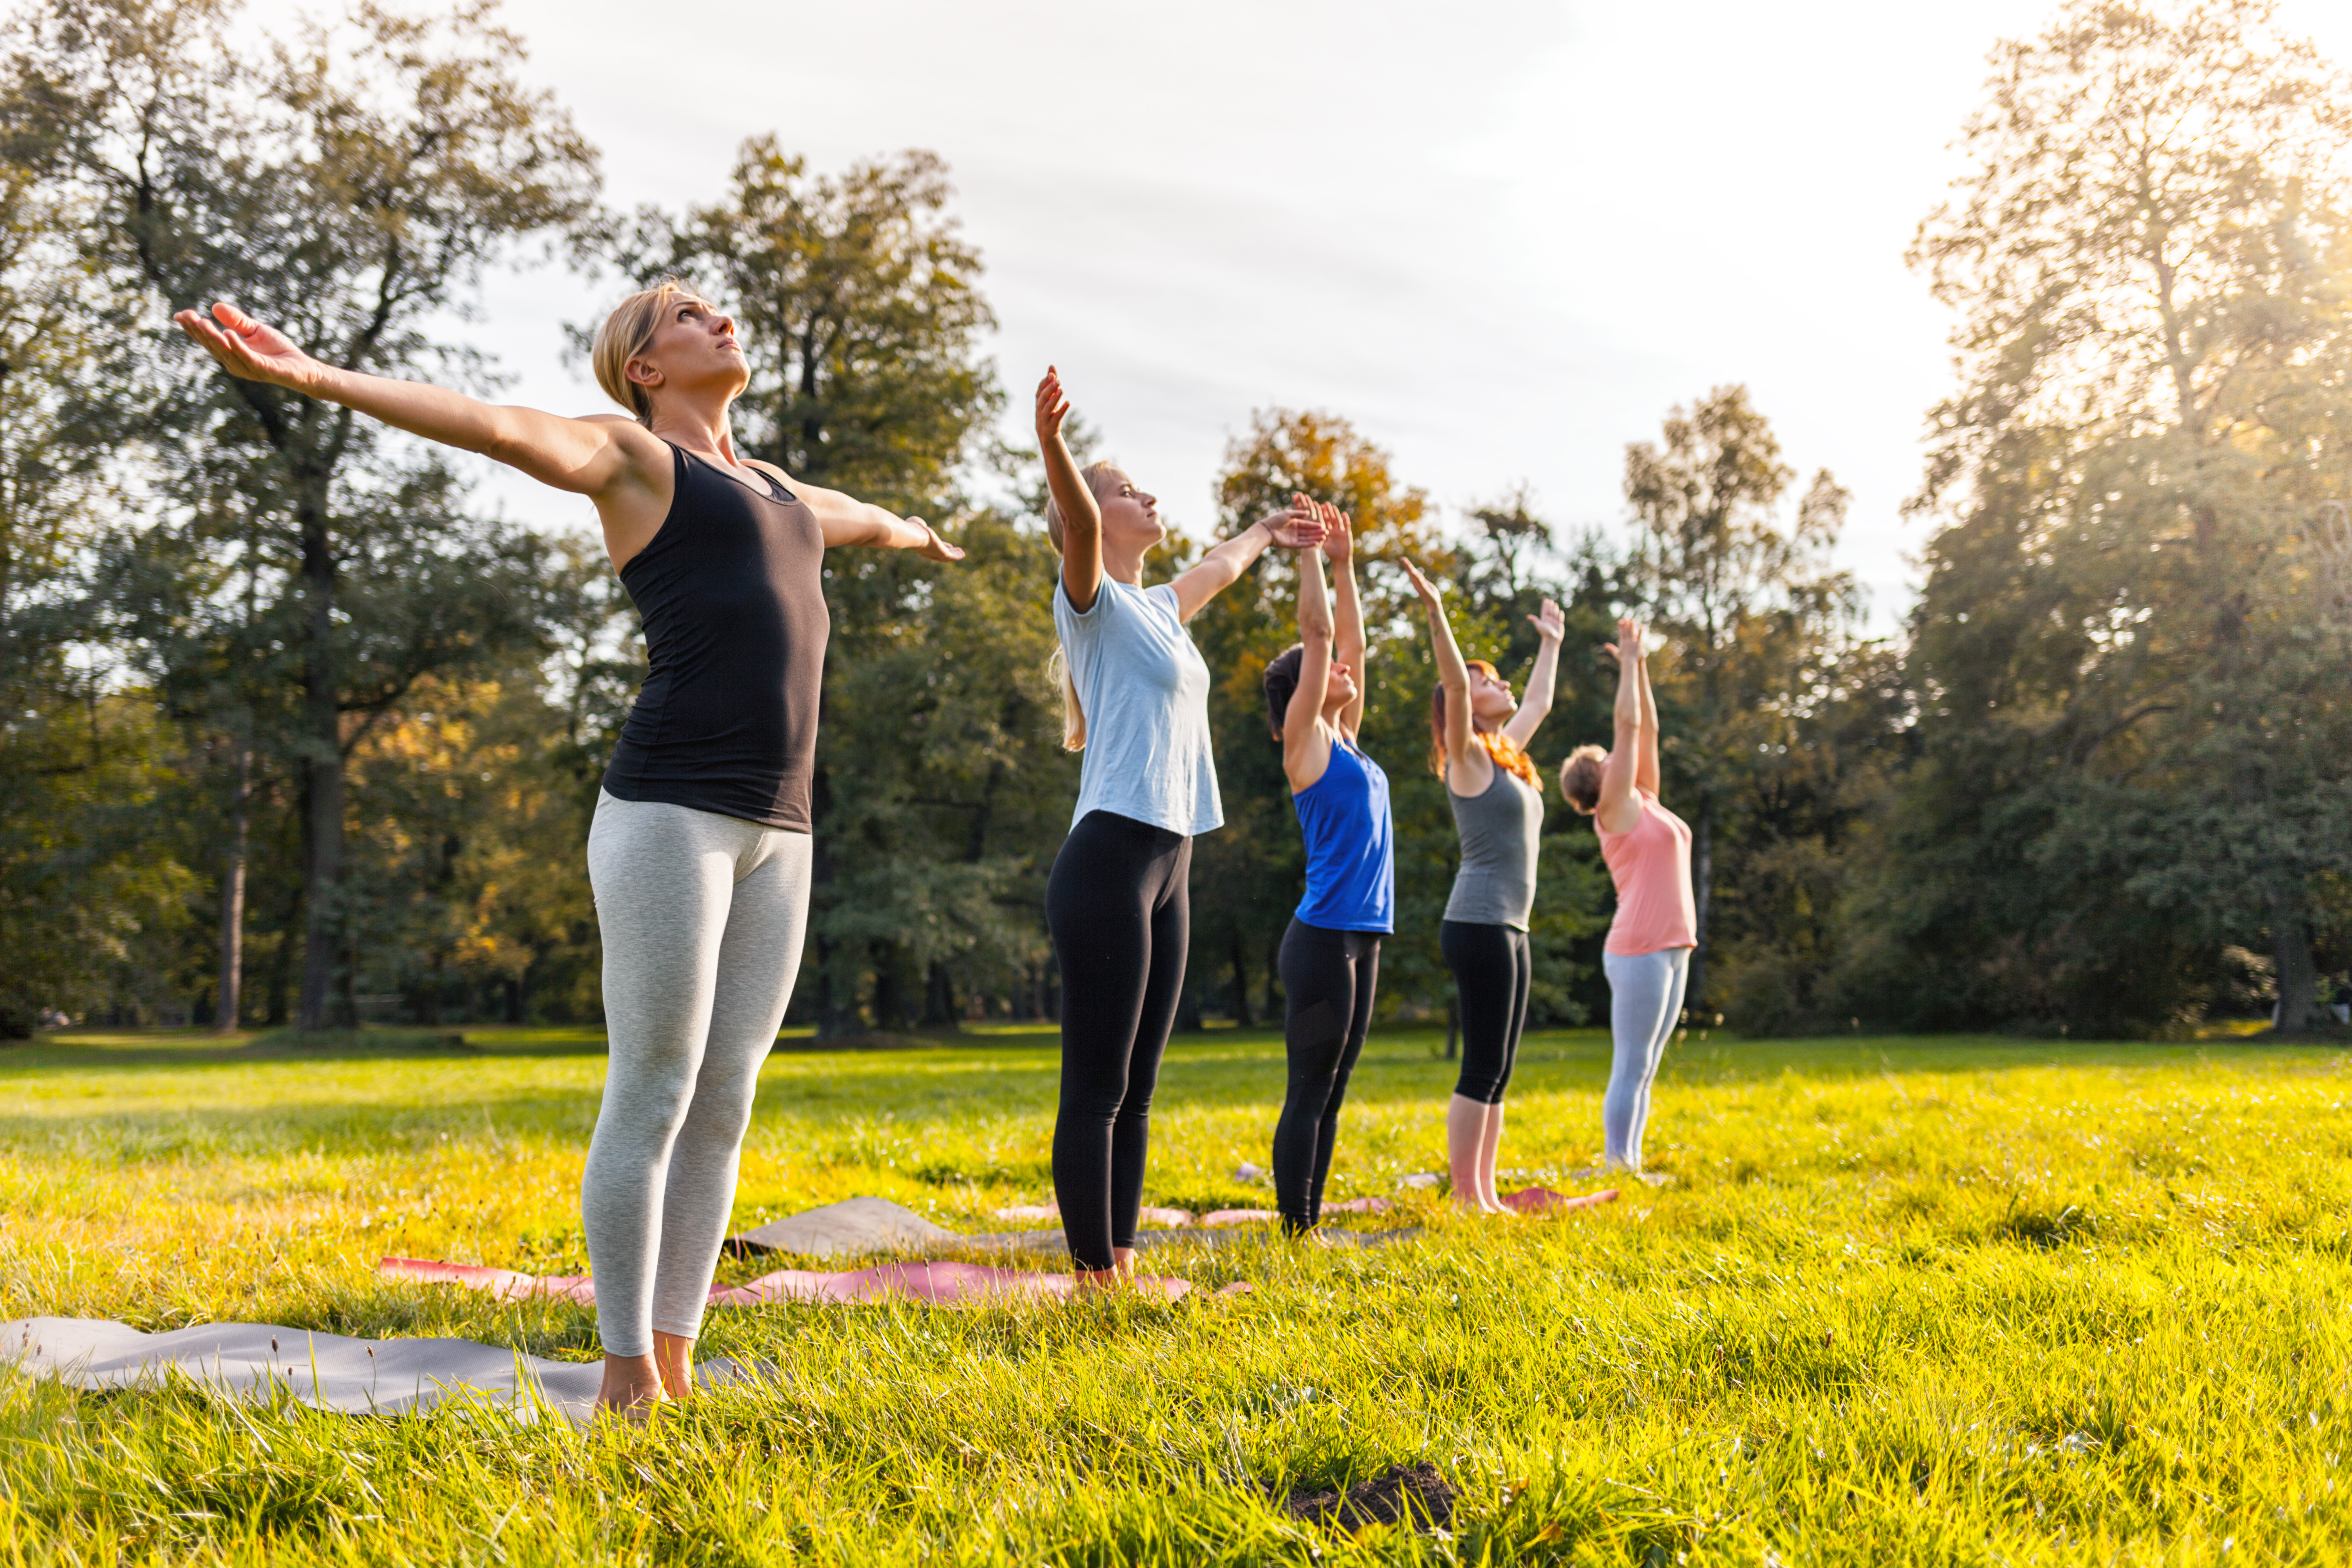
<path fill-rule="evenodd" d="M 343 882 L 343 726 L 336 708 L 334 550 L 322 501 L 301 503 L 303 581 L 303 759 L 301 759 L 301 999 L 294 1025 L 327 1027 L 341 943 Z"/>

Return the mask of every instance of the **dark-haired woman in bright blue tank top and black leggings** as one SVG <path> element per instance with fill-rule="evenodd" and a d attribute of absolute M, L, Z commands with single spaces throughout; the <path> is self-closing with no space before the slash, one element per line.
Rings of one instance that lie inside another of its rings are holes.
<path fill-rule="evenodd" d="M 1298 552 L 1298 646 L 1265 665 L 1265 712 L 1282 741 L 1282 771 L 1308 842 L 1308 896 L 1282 936 L 1282 990 L 1291 1086 L 1275 1124 L 1275 1204 L 1298 1237 L 1322 1220 L 1338 1105 L 1371 1025 L 1381 938 L 1397 922 L 1397 835 L 1388 773 L 1355 745 L 1364 724 L 1364 609 L 1345 512 L 1322 508 L 1338 635 L 1322 557 Z"/>

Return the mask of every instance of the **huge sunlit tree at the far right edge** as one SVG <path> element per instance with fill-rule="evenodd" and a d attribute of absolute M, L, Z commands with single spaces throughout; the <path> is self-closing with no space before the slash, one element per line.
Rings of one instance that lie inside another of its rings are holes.
<path fill-rule="evenodd" d="M 1962 388 L 1884 926 L 1962 1013 L 2100 1032 L 2253 938 L 2319 1025 L 2352 733 L 2298 522 L 2352 473 L 2345 85 L 2267 0 L 2077 0 L 1992 63 L 1915 244 Z"/>

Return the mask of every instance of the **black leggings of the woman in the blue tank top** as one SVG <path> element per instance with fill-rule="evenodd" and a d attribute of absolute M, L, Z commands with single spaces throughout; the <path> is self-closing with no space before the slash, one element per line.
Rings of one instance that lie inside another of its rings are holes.
<path fill-rule="evenodd" d="M 1291 919 L 1282 933 L 1291 1088 L 1275 1124 L 1275 1204 L 1282 1227 L 1294 1234 L 1322 1220 L 1338 1105 L 1348 1098 L 1348 1074 L 1364 1048 L 1378 985 L 1378 931 L 1324 931 Z"/>

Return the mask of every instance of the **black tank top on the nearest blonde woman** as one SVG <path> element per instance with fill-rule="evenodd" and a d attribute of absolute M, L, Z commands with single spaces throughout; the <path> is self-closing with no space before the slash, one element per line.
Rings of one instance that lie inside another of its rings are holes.
<path fill-rule="evenodd" d="M 670 515 L 621 567 L 652 670 L 604 790 L 809 832 L 816 698 L 833 632 L 823 531 L 767 475 L 769 494 L 760 494 L 684 447 L 670 451 Z"/>

